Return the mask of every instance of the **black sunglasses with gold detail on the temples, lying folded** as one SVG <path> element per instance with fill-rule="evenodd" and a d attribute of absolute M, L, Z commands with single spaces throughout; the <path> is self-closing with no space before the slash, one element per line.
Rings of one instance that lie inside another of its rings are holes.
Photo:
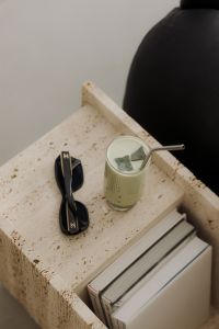
<path fill-rule="evenodd" d="M 89 213 L 84 204 L 76 201 L 73 192 L 83 184 L 83 168 L 79 159 L 62 151 L 55 161 L 55 177 L 62 195 L 59 225 L 67 235 L 77 235 L 89 227 Z"/>

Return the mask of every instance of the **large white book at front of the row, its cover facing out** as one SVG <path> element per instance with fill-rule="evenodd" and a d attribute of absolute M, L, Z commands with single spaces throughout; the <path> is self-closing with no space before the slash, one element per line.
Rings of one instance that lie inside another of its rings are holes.
<path fill-rule="evenodd" d="M 114 328 L 196 329 L 208 317 L 211 247 L 194 237 L 112 315 Z"/>

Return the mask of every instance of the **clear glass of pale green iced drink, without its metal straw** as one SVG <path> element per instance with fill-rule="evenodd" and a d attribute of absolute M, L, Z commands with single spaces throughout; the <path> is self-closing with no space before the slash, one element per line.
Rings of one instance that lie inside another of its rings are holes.
<path fill-rule="evenodd" d="M 149 148 L 139 138 L 120 136 L 107 148 L 104 173 L 104 194 L 108 204 L 126 211 L 140 198 L 149 162 L 143 159 Z"/>

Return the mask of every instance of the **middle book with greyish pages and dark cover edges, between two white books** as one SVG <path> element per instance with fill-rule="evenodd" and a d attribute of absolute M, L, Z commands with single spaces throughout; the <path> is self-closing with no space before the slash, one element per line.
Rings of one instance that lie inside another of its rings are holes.
<path fill-rule="evenodd" d="M 128 266 L 101 295 L 102 306 L 107 326 L 112 328 L 111 314 L 115 309 L 114 305 L 122 299 L 129 291 L 135 291 L 136 284 L 153 270 L 159 263 L 173 253 L 183 241 L 195 234 L 195 228 L 186 220 L 177 223 L 169 230 L 162 239 L 157 240 L 146 250 L 130 266 Z"/>

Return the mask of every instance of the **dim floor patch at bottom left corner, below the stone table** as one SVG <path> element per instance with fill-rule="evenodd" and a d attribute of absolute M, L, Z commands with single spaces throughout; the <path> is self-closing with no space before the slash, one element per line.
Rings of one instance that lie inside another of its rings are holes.
<path fill-rule="evenodd" d="M 22 305 L 1 284 L 0 329 L 39 329 Z"/>

